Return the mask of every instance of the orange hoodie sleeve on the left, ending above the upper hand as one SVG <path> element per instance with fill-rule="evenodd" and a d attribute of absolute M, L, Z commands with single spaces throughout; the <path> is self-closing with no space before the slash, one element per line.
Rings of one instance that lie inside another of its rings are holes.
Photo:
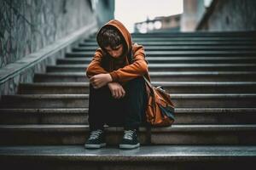
<path fill-rule="evenodd" d="M 86 76 L 88 78 L 93 77 L 97 74 L 108 73 L 102 68 L 102 49 L 98 48 L 94 54 L 93 59 L 86 69 Z"/>

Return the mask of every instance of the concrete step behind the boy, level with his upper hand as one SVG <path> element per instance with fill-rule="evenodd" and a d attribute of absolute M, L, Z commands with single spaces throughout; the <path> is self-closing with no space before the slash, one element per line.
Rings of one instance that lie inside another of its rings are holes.
<path fill-rule="evenodd" d="M 254 82 L 256 71 L 166 71 L 149 72 L 153 82 Z M 35 74 L 34 82 L 88 82 L 84 72 Z"/>

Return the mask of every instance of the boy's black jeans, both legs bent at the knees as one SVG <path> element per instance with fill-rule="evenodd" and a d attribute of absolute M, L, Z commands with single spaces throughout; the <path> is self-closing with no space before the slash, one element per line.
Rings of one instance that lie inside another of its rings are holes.
<path fill-rule="evenodd" d="M 108 85 L 97 89 L 90 85 L 90 130 L 103 129 L 104 124 L 125 129 L 145 124 L 147 93 L 143 77 L 126 82 L 123 88 L 125 97 L 114 99 Z"/>

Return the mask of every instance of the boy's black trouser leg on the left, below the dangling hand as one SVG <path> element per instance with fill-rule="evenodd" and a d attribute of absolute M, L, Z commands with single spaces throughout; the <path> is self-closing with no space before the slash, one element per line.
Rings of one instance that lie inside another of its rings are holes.
<path fill-rule="evenodd" d="M 108 86 L 93 88 L 90 85 L 88 122 L 90 130 L 124 124 L 124 99 L 114 99 Z"/>

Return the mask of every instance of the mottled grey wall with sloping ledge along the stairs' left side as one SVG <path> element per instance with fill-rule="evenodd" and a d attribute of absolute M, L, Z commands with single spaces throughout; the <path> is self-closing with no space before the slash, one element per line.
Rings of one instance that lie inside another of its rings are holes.
<path fill-rule="evenodd" d="M 98 18 L 102 22 L 113 19 L 113 10 L 93 8 L 93 5 L 103 7 L 105 1 L 113 3 L 113 0 L 0 0 L 0 98 L 3 94 L 16 94 L 20 82 L 33 82 L 34 73 L 45 72 L 46 65 L 55 65 L 55 59 L 63 58 L 79 39 L 5 78 L 8 71 L 15 71 L 15 65 L 29 64 L 31 55 L 41 51 L 44 54 L 44 49 L 54 47 L 79 29 L 93 25 L 96 30 L 94 23 Z M 90 33 L 86 31 L 79 38 L 82 41 Z"/>

